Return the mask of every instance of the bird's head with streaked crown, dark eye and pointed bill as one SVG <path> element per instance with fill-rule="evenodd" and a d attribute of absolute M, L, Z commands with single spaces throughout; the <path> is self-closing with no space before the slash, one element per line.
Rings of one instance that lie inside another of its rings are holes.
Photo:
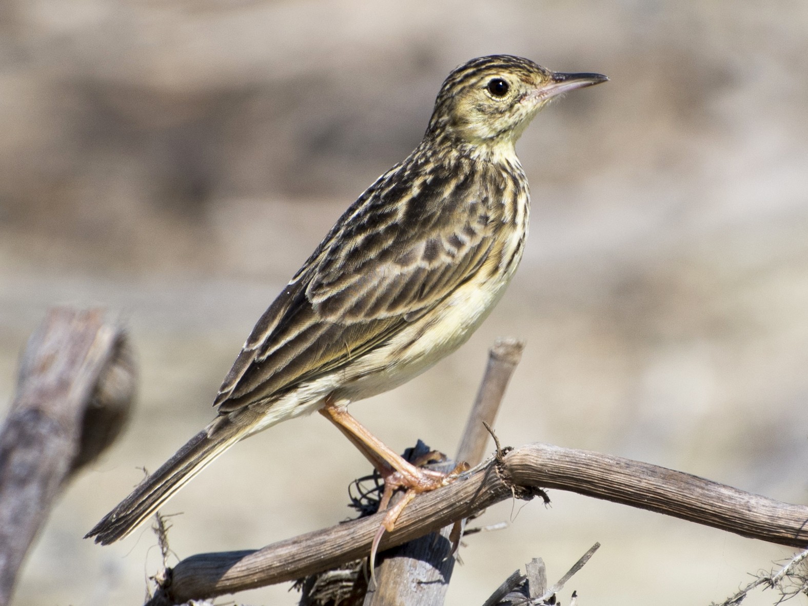
<path fill-rule="evenodd" d="M 513 150 L 533 116 L 562 93 L 608 80 L 601 74 L 562 74 L 511 55 L 478 57 L 448 75 L 427 137 L 451 145 Z"/>

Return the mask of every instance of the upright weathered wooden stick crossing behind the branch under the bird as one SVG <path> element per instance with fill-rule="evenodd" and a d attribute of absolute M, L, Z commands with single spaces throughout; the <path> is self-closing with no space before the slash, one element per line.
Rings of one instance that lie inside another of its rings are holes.
<path fill-rule="evenodd" d="M 466 422 L 455 461 L 464 461 L 469 465 L 478 465 L 482 461 L 490 438 L 483 422 L 489 425 L 494 423 L 523 349 L 524 343 L 517 339 L 497 339 L 494 347 L 491 347 L 486 372 Z M 440 471 L 451 471 L 454 466 L 454 461 L 448 461 Z M 430 532 L 425 537 L 381 553 L 375 570 L 378 584 L 368 587 L 364 606 L 443 604 L 455 563 L 452 539 L 460 541 L 461 526 L 457 528 L 457 537 L 452 537 L 452 528 L 441 528 L 440 531 Z"/>

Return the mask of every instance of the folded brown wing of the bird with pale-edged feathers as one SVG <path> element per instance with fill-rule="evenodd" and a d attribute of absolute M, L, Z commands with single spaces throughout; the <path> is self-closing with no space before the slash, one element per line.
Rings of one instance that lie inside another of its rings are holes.
<path fill-rule="evenodd" d="M 221 385 L 220 414 L 347 364 L 482 267 L 491 217 L 477 179 L 406 177 L 389 171 L 348 208 L 259 319 Z"/>

